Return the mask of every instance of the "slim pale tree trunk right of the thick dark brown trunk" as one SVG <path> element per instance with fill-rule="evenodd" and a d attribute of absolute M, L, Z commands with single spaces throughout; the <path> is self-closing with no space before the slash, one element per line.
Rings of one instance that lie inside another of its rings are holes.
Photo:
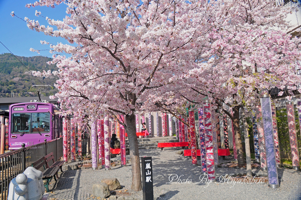
<path fill-rule="evenodd" d="M 244 108 L 241 108 L 241 115 L 244 124 L 244 138 L 245 138 L 246 159 L 247 159 L 247 179 L 252 179 L 253 177 L 252 177 L 250 139 L 249 139 L 249 124 L 247 123 L 247 118 L 246 118 Z"/>

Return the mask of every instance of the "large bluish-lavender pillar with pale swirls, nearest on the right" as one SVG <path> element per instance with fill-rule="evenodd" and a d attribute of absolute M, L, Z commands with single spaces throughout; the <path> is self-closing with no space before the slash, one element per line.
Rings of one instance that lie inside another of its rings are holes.
<path fill-rule="evenodd" d="M 262 112 L 262 124 L 265 137 L 265 155 L 266 165 L 268 170 L 268 186 L 271 188 L 278 188 L 278 172 L 276 166 L 276 155 L 274 147 L 274 135 L 273 135 L 273 120 L 272 120 L 272 108 L 271 108 L 271 95 L 260 95 L 261 112 Z"/>

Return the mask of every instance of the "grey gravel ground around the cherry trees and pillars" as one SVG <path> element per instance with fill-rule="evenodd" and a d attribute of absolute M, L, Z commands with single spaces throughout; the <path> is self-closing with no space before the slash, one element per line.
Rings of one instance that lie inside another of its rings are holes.
<path fill-rule="evenodd" d="M 188 157 L 176 154 L 181 149 L 172 148 L 139 150 L 140 157 L 151 156 L 153 159 L 154 196 L 160 195 L 160 200 L 167 199 L 301 199 L 301 172 L 289 169 L 278 169 L 281 177 L 280 188 L 271 189 L 267 183 L 234 183 L 231 180 L 219 182 L 223 174 L 245 173 L 245 169 L 216 168 L 216 183 L 200 183 L 201 166 L 193 166 Z M 120 159 L 112 158 L 113 161 Z M 127 156 L 129 159 L 129 156 Z M 226 157 L 230 161 L 231 157 Z M 200 163 L 200 160 L 198 160 Z M 220 162 L 226 162 L 220 160 Z M 259 169 L 254 173 L 264 174 Z M 172 175 L 173 174 L 173 175 Z M 176 178 L 178 176 L 178 179 Z M 174 180 L 170 181 L 172 177 Z M 132 169 L 116 166 L 111 170 L 67 170 L 60 174 L 59 180 L 49 186 L 53 191 L 49 198 L 56 199 L 93 199 L 92 185 L 100 183 L 104 178 L 117 178 L 123 186 L 117 195 L 132 196 L 142 199 L 142 191 L 135 192 L 131 188 Z M 185 181 L 183 181 L 185 180 Z M 186 181 L 187 180 L 187 181 Z M 182 183 L 181 183 L 182 181 Z"/>

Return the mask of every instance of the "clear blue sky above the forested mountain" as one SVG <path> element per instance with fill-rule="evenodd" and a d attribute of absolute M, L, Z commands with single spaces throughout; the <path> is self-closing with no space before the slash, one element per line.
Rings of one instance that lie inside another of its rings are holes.
<path fill-rule="evenodd" d="M 66 5 L 61 4 L 56 8 L 35 7 L 26 8 L 27 3 L 33 3 L 30 0 L 0 0 L 0 41 L 17 56 L 31 57 L 42 55 L 51 57 L 49 51 L 41 51 L 40 54 L 30 52 L 30 48 L 37 50 L 49 49 L 49 45 L 42 45 L 40 40 L 57 44 L 57 42 L 67 43 L 64 39 L 45 36 L 44 33 L 38 33 L 30 30 L 26 23 L 17 18 L 11 17 L 11 11 L 14 11 L 18 17 L 24 19 L 28 17 L 31 20 L 39 20 L 40 24 L 47 26 L 47 21 L 43 17 L 36 17 L 35 11 L 41 11 L 44 17 L 55 20 L 62 20 L 66 15 Z M 9 53 L 9 51 L 0 43 L 0 54 Z"/>

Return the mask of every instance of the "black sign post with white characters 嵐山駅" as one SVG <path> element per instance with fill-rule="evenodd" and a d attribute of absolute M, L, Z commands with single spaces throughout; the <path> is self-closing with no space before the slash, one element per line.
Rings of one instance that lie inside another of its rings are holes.
<path fill-rule="evenodd" d="M 151 157 L 141 157 L 143 200 L 154 200 L 153 164 Z"/>

